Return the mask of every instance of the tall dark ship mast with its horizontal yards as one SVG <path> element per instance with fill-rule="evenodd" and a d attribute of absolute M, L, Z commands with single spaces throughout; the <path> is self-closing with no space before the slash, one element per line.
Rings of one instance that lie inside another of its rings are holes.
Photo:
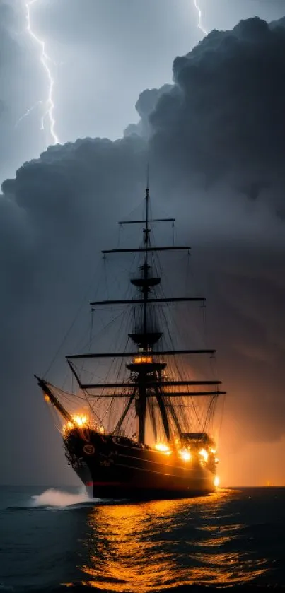
<path fill-rule="evenodd" d="M 72 356 L 66 356 L 67 362 L 71 368 L 71 371 L 76 378 L 79 387 L 83 390 L 88 389 L 107 389 L 107 393 L 104 392 L 103 394 L 95 394 L 95 397 L 125 397 L 125 394 L 122 394 L 122 389 L 132 389 L 132 392 L 129 393 L 129 401 L 127 403 L 127 407 L 122 412 L 122 416 L 120 417 L 117 425 L 115 427 L 114 433 L 120 430 L 124 418 L 127 416 L 127 413 L 130 409 L 132 402 L 135 404 L 136 409 L 136 416 L 138 418 L 138 441 L 142 444 L 145 442 L 145 432 L 146 432 L 146 403 L 149 398 L 155 399 L 156 404 L 158 405 L 158 410 L 161 416 L 161 421 L 163 423 L 163 429 L 165 433 L 166 440 L 171 439 L 170 434 L 170 416 L 172 417 L 173 423 L 175 424 L 175 429 L 178 433 L 180 433 L 180 424 L 178 421 L 178 417 L 175 413 L 175 410 L 170 404 L 170 398 L 172 397 L 199 397 L 199 396 L 211 396 L 212 398 L 216 398 L 225 392 L 219 391 L 219 384 L 221 381 L 217 380 L 172 380 L 168 379 L 163 375 L 163 370 L 166 367 L 165 362 L 159 362 L 156 359 L 156 355 L 160 358 L 161 356 L 175 356 L 175 355 L 182 355 L 182 354 L 211 354 L 213 355 L 215 350 L 183 350 L 183 351 L 159 351 L 158 348 L 155 350 L 153 346 L 161 339 L 163 335 L 161 331 L 159 331 L 159 327 L 156 327 L 156 323 L 151 323 L 153 321 L 149 315 L 148 307 L 149 305 L 154 305 L 155 303 L 181 303 L 185 301 L 202 301 L 204 303 L 205 298 L 203 297 L 178 297 L 178 298 L 157 298 L 156 295 L 149 296 L 149 292 L 151 288 L 157 286 L 161 283 L 160 277 L 153 277 L 150 274 L 151 266 L 149 265 L 149 254 L 153 252 L 163 252 L 163 251 L 175 251 L 175 250 L 186 250 L 187 252 L 190 251 L 190 247 L 188 246 L 173 246 L 173 247 L 152 247 L 150 241 L 150 223 L 163 223 L 174 221 L 174 218 L 150 218 L 149 216 L 149 170 L 147 173 L 147 183 L 146 183 L 146 218 L 144 220 L 138 221 L 120 221 L 119 224 L 144 224 L 144 242 L 141 247 L 133 248 L 133 249 L 105 249 L 103 250 L 103 254 L 114 254 L 114 253 L 136 253 L 139 252 L 141 255 L 144 256 L 144 264 L 140 266 L 139 270 L 141 271 L 141 276 L 139 278 L 132 278 L 131 283 L 133 286 L 136 286 L 141 291 L 141 298 L 132 298 L 129 300 L 104 300 L 104 301 L 94 301 L 91 303 L 91 307 L 96 307 L 100 305 L 142 305 L 142 315 L 140 319 L 140 323 L 135 323 L 135 327 L 133 333 L 129 334 L 129 338 L 132 339 L 134 344 L 136 344 L 137 351 L 136 352 L 115 352 L 115 353 L 86 353 L 86 354 L 75 354 Z M 132 357 L 132 362 L 126 364 L 126 368 L 130 371 L 129 382 L 106 382 L 106 383 L 89 383 L 86 384 L 85 382 L 81 382 L 80 378 L 76 370 L 74 369 L 74 365 L 72 363 L 73 360 L 83 359 L 83 358 L 114 358 L 114 357 Z M 190 392 L 187 391 L 191 386 L 201 386 L 201 391 Z M 215 386 L 213 390 L 209 390 L 209 386 Z M 185 387 L 185 391 L 175 391 L 172 388 Z M 117 389 L 120 389 L 120 392 L 117 392 Z M 165 399 L 166 398 L 166 399 Z M 168 412 L 166 408 L 168 407 Z"/>

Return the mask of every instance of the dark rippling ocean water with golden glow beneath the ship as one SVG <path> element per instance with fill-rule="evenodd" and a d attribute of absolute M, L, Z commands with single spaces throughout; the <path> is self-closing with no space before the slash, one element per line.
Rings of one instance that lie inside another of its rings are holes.
<path fill-rule="evenodd" d="M 136 504 L 88 500 L 78 488 L 0 488 L 0 592 L 71 584 L 128 593 L 284 587 L 285 488 Z"/>

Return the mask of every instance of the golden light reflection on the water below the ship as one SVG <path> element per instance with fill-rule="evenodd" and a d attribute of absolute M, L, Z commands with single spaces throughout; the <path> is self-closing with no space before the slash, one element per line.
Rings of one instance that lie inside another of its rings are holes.
<path fill-rule="evenodd" d="M 231 585 L 267 569 L 235 540 L 244 525 L 225 514 L 231 491 L 187 500 L 98 506 L 88 516 L 85 582 L 115 592 L 173 585 Z"/>

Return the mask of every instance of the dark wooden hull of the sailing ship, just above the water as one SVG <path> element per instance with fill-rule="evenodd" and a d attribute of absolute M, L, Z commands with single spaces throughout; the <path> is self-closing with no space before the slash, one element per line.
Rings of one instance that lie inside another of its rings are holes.
<path fill-rule="evenodd" d="M 112 435 L 73 430 L 66 457 L 92 498 L 187 498 L 215 491 L 214 471 Z"/>

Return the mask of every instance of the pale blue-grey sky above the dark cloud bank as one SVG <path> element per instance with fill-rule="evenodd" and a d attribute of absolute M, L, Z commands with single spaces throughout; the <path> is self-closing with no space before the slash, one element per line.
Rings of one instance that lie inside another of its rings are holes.
<path fill-rule="evenodd" d="M 172 81 L 173 59 L 201 39 L 192 0 L 36 0 L 31 28 L 46 42 L 54 77 L 55 132 L 61 143 L 117 139 L 141 90 Z M 201 0 L 202 27 L 229 29 L 240 18 L 284 16 L 284 0 Z M 52 142 L 40 130 L 48 81 L 40 46 L 28 35 L 25 1 L 1 0 L 0 178 L 13 175 Z M 30 115 L 18 122 L 25 112 Z M 33 108 L 34 107 L 34 108 Z"/>

